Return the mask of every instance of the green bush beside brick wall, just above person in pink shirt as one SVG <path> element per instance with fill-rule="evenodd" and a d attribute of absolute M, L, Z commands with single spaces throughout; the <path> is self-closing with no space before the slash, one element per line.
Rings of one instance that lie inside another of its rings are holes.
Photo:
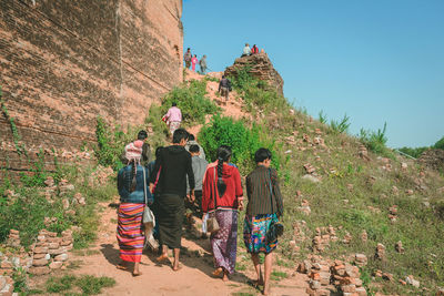
<path fill-rule="evenodd" d="M 174 88 L 162 99 L 162 115 L 175 102 L 182 111 L 182 122 L 192 125 L 205 122 L 206 114 L 215 114 L 221 109 L 210 99 L 205 98 L 206 81 L 192 80 Z M 159 118 L 159 120 L 162 118 Z"/>

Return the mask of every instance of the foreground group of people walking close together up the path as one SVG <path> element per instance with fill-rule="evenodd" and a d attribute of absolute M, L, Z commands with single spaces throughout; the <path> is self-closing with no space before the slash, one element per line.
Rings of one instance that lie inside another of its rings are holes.
<path fill-rule="evenodd" d="M 272 268 L 272 252 L 278 245 L 282 226 L 283 202 L 278 173 L 270 167 L 272 154 L 268 149 L 259 149 L 254 154 L 256 167 L 246 176 L 248 204 L 244 206 L 241 174 L 231 163 L 232 150 L 221 145 L 216 160 L 208 163 L 204 151 L 194 136 L 184 129 L 173 132 L 172 144 L 158 147 L 155 161 L 149 162 L 147 132 L 141 131 L 138 140 L 125 146 L 127 166 L 118 173 L 120 206 L 118 211 L 118 234 L 120 246 L 120 269 L 129 269 L 133 263 L 133 276 L 141 275 L 139 265 L 147 225 L 144 211 L 152 211 L 155 217 L 155 232 L 159 239 L 159 263 L 170 263 L 168 251 L 173 251 L 172 269 L 181 269 L 180 248 L 184 201 L 195 204 L 205 222 L 212 227 L 210 241 L 214 258 L 214 277 L 229 280 L 235 271 L 238 249 L 239 211 L 246 208 L 243 238 L 258 275 L 254 285 L 263 285 L 269 293 Z M 149 150 L 149 146 L 148 146 Z M 148 165 L 143 165 L 143 161 Z M 149 210 L 145 208 L 149 206 Z M 216 224 L 216 226 L 214 226 Z M 279 227 L 281 226 L 281 227 Z M 148 227 L 151 231 L 151 226 Z M 276 234 L 278 233 L 278 234 Z M 147 234 L 148 235 L 148 234 Z M 264 274 L 259 254 L 265 254 Z"/>

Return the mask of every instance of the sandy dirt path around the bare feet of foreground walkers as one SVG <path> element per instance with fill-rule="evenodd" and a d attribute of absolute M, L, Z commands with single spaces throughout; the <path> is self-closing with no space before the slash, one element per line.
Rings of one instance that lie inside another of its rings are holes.
<path fill-rule="evenodd" d="M 115 201 L 117 202 L 117 201 Z M 99 238 L 88 251 L 87 256 L 73 255 L 71 261 L 82 262 L 80 268 L 74 269 L 75 275 L 109 276 L 115 279 L 117 285 L 103 290 L 102 295 L 260 295 L 248 285 L 248 279 L 253 277 L 252 265 L 248 263 L 245 272 L 236 272 L 229 283 L 210 276 L 213 271 L 209 239 L 191 239 L 190 232 L 182 238 L 182 269 L 173 272 L 170 266 L 158 265 L 154 255 L 144 253 L 142 256 L 140 277 L 132 277 L 131 273 L 119 271 L 119 245 L 115 239 L 117 213 L 115 207 L 102 204 Z M 240 242 L 239 249 L 242 249 Z M 245 255 L 239 255 L 238 262 L 246 262 Z M 275 271 L 285 272 L 289 278 L 272 283 L 272 295 L 306 295 L 306 276 L 295 274 L 293 271 L 274 267 Z M 242 295 L 242 294 L 241 294 Z"/>

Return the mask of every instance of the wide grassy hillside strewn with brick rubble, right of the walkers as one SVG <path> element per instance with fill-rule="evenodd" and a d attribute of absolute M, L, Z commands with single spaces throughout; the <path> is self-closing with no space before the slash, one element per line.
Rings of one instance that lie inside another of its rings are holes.
<path fill-rule="evenodd" d="M 436 287 L 444 286 L 444 198 L 438 192 L 438 188 L 444 186 L 443 175 L 424 171 L 417 163 L 394 155 L 385 146 L 386 125 L 375 132 L 365 131 L 361 137 L 352 136 L 346 133 L 349 116 L 326 125 L 324 113 L 320 114 L 320 121 L 311 119 L 299 109 L 293 109 L 292 115 L 289 112 L 290 108 L 284 104 L 276 106 L 266 100 L 259 102 L 254 101 L 254 98 L 248 98 L 248 89 L 252 83 L 254 82 L 243 79 L 241 83 L 234 83 L 234 86 L 245 102 L 252 103 L 252 111 L 261 109 L 266 114 L 255 124 L 268 127 L 268 136 L 275 140 L 273 152 L 282 160 L 279 173 L 285 205 L 285 214 L 282 217 L 285 233 L 276 251 L 276 257 L 282 259 L 278 259 L 276 265 L 283 266 L 285 261 L 305 259 L 306 255 L 312 253 L 315 228 L 332 225 L 340 239 L 330 243 L 322 256 L 336 259 L 355 253 L 365 254 L 369 264 L 361 268 L 361 274 L 370 292 L 416 295 L 418 290 L 412 286 L 397 283 L 397 279 L 404 279 L 407 275 L 413 275 L 423 287 L 433 293 L 436 292 Z M 256 88 L 255 91 L 261 90 Z M 320 134 L 316 133 L 316 129 Z M 297 132 L 295 142 L 287 142 L 285 137 L 293 132 Z M 306 134 L 310 141 L 320 135 L 326 146 L 321 147 L 302 141 L 303 134 Z M 357 152 L 362 144 L 369 149 L 370 161 L 359 157 Z M 285 151 L 291 153 L 284 154 Z M 382 169 L 385 164 L 379 156 L 390 157 L 390 171 Z M 401 169 L 402 162 L 408 164 L 406 170 Z M 311 163 L 316 169 L 321 177 L 320 183 L 302 178 L 305 174 L 305 163 Z M 426 176 L 422 177 L 421 172 L 427 172 Z M 349 184 L 352 184 L 352 190 L 349 188 Z M 398 188 L 398 195 L 392 193 L 393 186 Z M 413 190 L 414 194 L 406 194 L 406 190 Z M 302 193 L 301 197 L 296 197 L 296 191 Z M 307 200 L 311 206 L 312 212 L 309 216 L 297 211 L 303 198 Z M 424 201 L 427 201 L 430 206 L 425 206 Z M 397 205 L 398 208 L 395 223 L 391 223 L 387 216 L 392 205 Z M 239 221 L 242 218 L 243 213 Z M 306 238 L 302 242 L 296 241 L 300 251 L 293 252 L 290 241 L 296 238 L 293 235 L 293 225 L 299 221 L 306 223 L 303 229 Z M 240 239 L 243 228 L 241 224 L 238 232 Z M 361 241 L 363 229 L 367 232 L 366 242 Z M 350 245 L 341 242 L 345 232 L 353 237 Z M 394 245 L 398 241 L 403 243 L 405 254 L 396 253 Z M 386 247 L 386 262 L 374 259 L 377 243 Z M 243 245 L 240 245 L 240 249 L 243 249 Z M 375 269 L 392 273 L 395 283 L 374 280 L 371 274 Z"/>

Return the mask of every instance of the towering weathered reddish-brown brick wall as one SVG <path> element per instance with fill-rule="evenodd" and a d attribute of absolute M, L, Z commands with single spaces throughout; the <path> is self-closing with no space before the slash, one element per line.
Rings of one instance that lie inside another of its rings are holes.
<path fill-rule="evenodd" d="M 79 149 L 99 114 L 142 123 L 182 80 L 181 13 L 182 0 L 1 0 L 0 85 L 26 145 Z M 0 141 L 0 166 L 26 167 L 3 115 Z"/>

